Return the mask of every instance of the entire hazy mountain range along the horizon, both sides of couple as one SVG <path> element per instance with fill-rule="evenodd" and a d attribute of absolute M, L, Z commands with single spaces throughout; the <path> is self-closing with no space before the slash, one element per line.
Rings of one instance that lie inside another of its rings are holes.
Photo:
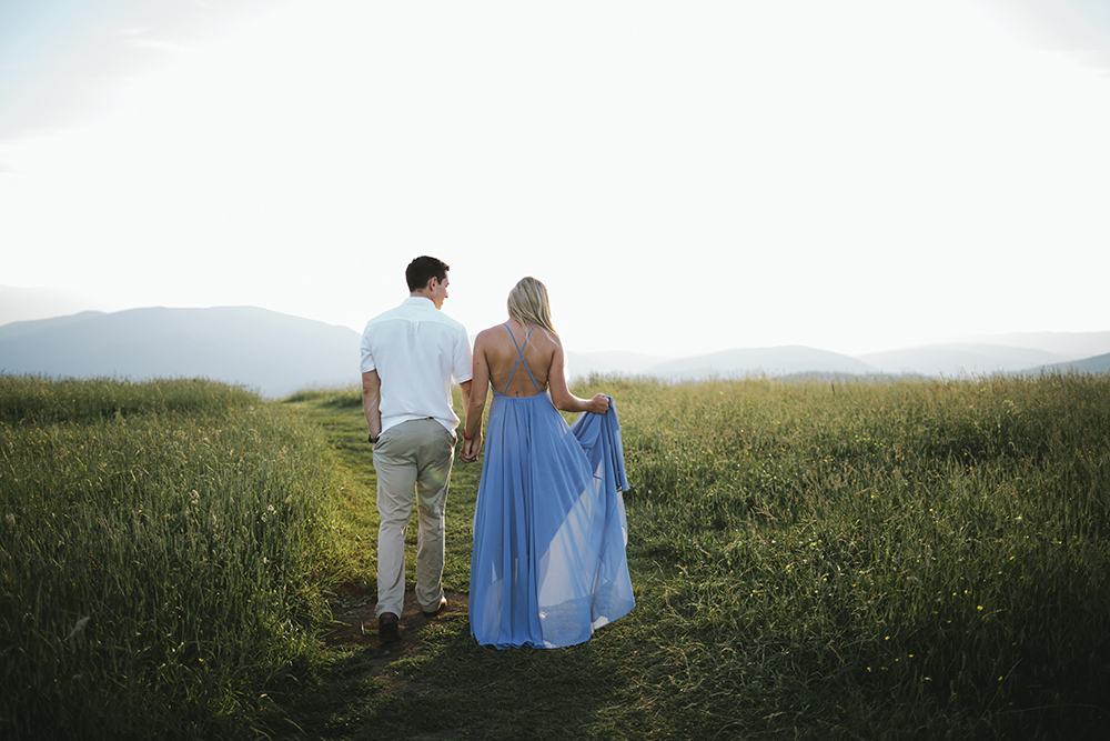
<path fill-rule="evenodd" d="M 0 287 L 0 322 L 10 316 L 3 309 L 11 290 Z M 568 352 L 568 367 L 573 377 L 599 373 L 670 381 L 743 375 L 957 378 L 1041 370 L 1110 372 L 1110 332 L 965 340 L 859 357 L 798 346 L 680 359 Z M 278 398 L 309 387 L 357 383 L 359 333 L 253 307 L 83 311 L 0 326 L 0 373 L 134 380 L 203 377 Z"/>

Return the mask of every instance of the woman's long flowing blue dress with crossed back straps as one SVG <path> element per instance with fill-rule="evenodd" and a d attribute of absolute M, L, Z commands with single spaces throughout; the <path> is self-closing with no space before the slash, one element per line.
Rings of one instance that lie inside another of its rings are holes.
<path fill-rule="evenodd" d="M 635 607 L 627 489 L 612 399 L 607 413 L 583 413 L 568 428 L 547 393 L 513 398 L 494 389 L 471 559 L 478 643 L 573 645 Z"/>

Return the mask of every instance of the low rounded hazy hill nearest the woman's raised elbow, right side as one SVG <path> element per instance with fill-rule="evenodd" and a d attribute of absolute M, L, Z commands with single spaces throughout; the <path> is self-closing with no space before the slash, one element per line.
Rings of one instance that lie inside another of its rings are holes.
<path fill-rule="evenodd" d="M 855 358 L 801 346 L 725 350 L 707 356 L 670 360 L 644 371 L 667 380 L 794 375 L 799 373 L 868 374 L 878 370 Z"/>

